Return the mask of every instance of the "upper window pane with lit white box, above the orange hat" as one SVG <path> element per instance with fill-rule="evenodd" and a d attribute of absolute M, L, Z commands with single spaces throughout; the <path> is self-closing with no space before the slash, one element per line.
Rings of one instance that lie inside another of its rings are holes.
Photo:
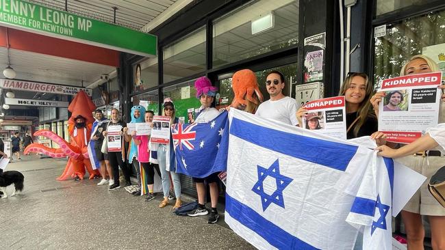
<path fill-rule="evenodd" d="M 252 1 L 216 20 L 213 66 L 297 44 L 298 5 L 292 0 Z"/>

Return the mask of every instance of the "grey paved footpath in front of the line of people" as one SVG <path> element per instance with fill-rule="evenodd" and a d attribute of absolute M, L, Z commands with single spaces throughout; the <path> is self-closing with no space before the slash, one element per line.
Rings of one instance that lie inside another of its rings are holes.
<path fill-rule="evenodd" d="M 25 189 L 0 199 L 0 249 L 254 249 L 223 217 L 179 217 L 157 207 L 161 195 L 145 202 L 99 179 L 58 182 L 66 159 L 22 158 L 7 167 L 23 173 Z"/>

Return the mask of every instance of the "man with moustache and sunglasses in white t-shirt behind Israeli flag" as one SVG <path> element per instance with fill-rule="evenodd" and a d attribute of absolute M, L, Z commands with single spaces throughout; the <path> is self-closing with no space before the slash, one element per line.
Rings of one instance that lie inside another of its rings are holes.
<path fill-rule="evenodd" d="M 285 80 L 281 72 L 277 70 L 269 72 L 266 78 L 266 89 L 270 100 L 259 105 L 255 115 L 296 126 L 298 124 L 295 115 L 296 101 L 283 94 L 284 86 Z"/>

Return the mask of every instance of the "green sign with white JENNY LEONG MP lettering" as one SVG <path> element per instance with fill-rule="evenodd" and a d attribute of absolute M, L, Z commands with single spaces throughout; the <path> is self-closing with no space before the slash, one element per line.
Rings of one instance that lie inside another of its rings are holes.
<path fill-rule="evenodd" d="M 0 23 L 45 36 L 145 57 L 153 57 L 157 51 L 157 38 L 151 34 L 26 1 L 0 0 Z"/>

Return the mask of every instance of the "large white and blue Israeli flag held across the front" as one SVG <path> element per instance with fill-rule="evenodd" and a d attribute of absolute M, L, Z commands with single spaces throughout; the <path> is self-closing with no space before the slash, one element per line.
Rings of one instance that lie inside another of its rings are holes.
<path fill-rule="evenodd" d="M 353 249 L 357 225 L 371 228 L 377 206 L 375 192 L 361 186 L 378 164 L 373 150 L 235 109 L 229 120 L 225 221 L 233 231 L 259 249 Z M 387 221 L 392 191 L 385 191 L 379 211 Z M 354 215 L 366 219 L 346 221 L 357 193 L 368 197 L 368 210 Z M 381 221 L 374 234 L 390 232 Z"/>

